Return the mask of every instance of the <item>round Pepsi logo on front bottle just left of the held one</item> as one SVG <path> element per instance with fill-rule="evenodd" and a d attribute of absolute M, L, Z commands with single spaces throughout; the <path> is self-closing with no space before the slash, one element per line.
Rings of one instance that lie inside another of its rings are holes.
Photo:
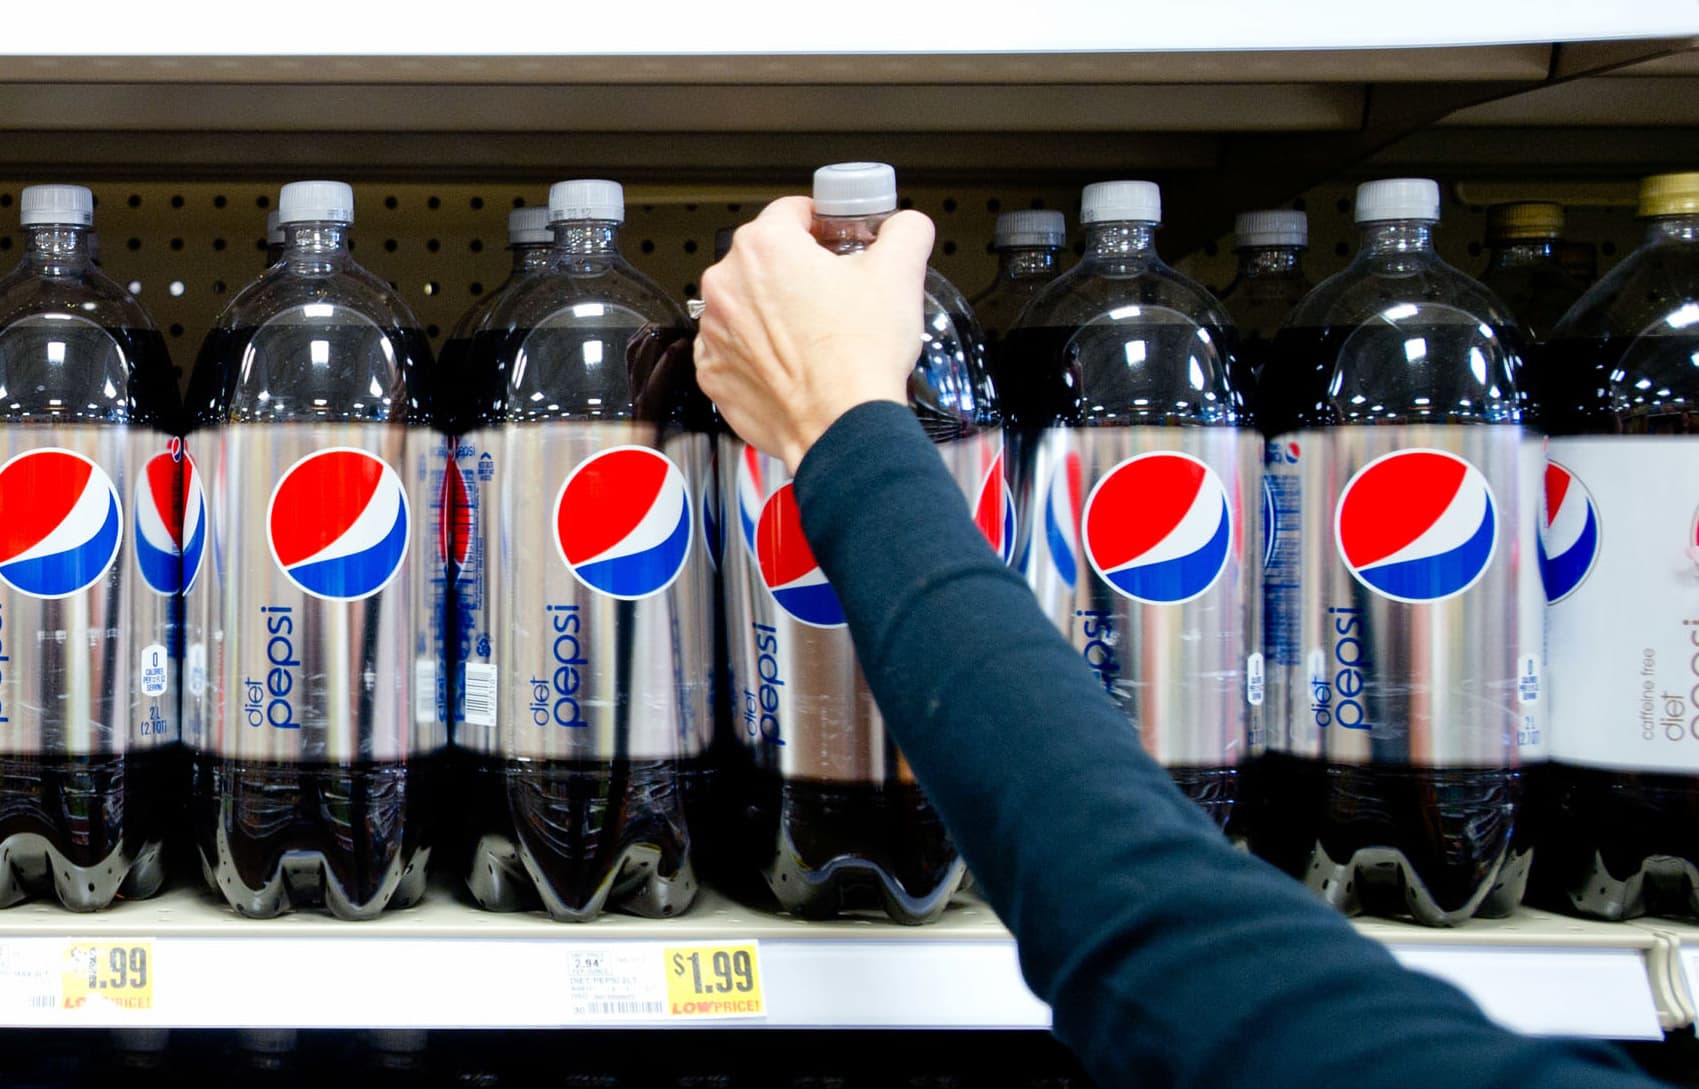
<path fill-rule="evenodd" d="M 554 499 L 554 540 L 567 571 L 625 601 L 673 584 L 690 556 L 690 527 L 685 474 L 649 447 L 591 454 Z"/>

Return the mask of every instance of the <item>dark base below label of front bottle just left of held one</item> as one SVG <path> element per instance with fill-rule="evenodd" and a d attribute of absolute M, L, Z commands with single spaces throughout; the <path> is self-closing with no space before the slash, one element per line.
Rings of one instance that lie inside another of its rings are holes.
<path fill-rule="evenodd" d="M 608 907 L 673 916 L 695 899 L 683 787 L 693 761 L 460 759 L 455 853 L 481 907 L 579 923 Z"/>

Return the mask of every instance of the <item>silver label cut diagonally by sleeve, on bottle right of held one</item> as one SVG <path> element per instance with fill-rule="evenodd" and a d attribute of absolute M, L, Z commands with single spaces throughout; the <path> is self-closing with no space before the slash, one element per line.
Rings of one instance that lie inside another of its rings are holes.
<path fill-rule="evenodd" d="M 1024 574 L 1166 766 L 1232 766 L 1261 732 L 1262 442 L 1240 428 L 1014 438 Z"/>

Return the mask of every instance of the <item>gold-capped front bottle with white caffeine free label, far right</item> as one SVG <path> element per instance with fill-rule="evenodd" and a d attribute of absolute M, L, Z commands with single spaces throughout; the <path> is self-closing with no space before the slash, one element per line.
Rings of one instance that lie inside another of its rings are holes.
<path fill-rule="evenodd" d="M 1645 243 L 1558 321 L 1539 566 L 1551 620 L 1543 894 L 1699 912 L 1699 173 L 1641 182 Z"/>

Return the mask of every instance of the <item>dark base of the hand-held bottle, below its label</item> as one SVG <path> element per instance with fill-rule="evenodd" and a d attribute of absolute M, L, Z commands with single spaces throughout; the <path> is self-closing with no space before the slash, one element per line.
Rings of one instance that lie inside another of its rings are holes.
<path fill-rule="evenodd" d="M 807 919 L 883 911 L 931 923 L 967 866 L 916 783 L 829 783 L 744 773 L 742 843 L 780 906 Z"/>

